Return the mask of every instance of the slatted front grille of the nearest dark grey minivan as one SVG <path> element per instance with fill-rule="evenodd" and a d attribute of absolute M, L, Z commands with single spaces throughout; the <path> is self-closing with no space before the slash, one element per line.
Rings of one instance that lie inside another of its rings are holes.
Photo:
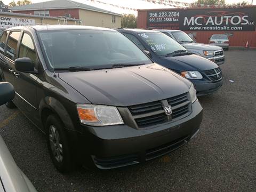
<path fill-rule="evenodd" d="M 172 115 L 167 116 L 164 107 L 170 105 L 172 107 Z M 147 127 L 161 124 L 168 121 L 177 121 L 190 114 L 191 102 L 188 93 L 178 96 L 141 105 L 130 106 L 129 110 L 138 126 Z"/>

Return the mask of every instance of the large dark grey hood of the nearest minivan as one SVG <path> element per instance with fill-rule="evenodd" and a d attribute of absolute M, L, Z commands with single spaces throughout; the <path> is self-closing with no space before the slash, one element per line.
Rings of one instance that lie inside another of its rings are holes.
<path fill-rule="evenodd" d="M 188 92 L 190 82 L 156 63 L 142 66 L 59 73 L 93 104 L 131 106 Z"/>

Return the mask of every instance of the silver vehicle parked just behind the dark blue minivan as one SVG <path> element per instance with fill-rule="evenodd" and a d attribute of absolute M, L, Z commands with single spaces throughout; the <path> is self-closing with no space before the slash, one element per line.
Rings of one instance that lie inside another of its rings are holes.
<path fill-rule="evenodd" d="M 200 55 L 204 58 L 207 58 L 218 65 L 221 65 L 225 62 L 225 55 L 223 49 L 219 46 L 207 45 L 203 43 L 196 43 L 190 36 L 181 30 L 167 30 L 167 29 L 156 29 L 161 31 L 165 35 L 174 39 L 185 47 L 189 52 Z"/>

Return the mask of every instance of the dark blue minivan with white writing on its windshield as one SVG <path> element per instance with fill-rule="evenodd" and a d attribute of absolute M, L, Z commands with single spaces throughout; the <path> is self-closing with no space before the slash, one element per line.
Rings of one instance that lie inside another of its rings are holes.
<path fill-rule="evenodd" d="M 211 94 L 220 89 L 223 78 L 221 69 L 214 62 L 189 53 L 172 38 L 152 30 L 118 29 L 141 50 L 146 50 L 156 63 L 189 79 L 197 95 Z"/>

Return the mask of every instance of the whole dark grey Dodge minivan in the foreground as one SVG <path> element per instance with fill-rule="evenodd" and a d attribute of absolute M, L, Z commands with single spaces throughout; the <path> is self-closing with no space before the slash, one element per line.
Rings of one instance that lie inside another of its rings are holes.
<path fill-rule="evenodd" d="M 46 134 L 59 171 L 74 162 L 112 169 L 149 161 L 199 130 L 193 84 L 113 29 L 15 27 L 0 45 L 0 80 L 15 89 L 7 107 Z"/>

